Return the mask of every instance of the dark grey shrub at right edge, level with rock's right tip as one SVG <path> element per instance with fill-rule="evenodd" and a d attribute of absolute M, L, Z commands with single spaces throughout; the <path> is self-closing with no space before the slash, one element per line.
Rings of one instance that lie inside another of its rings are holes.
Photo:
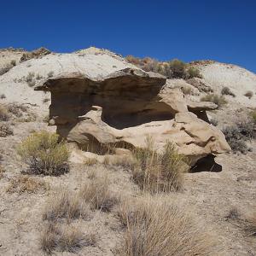
<path fill-rule="evenodd" d="M 230 148 L 234 152 L 247 153 L 248 147 L 245 141 L 251 140 L 254 135 L 253 122 L 240 122 L 235 125 L 227 126 L 223 130 Z"/>

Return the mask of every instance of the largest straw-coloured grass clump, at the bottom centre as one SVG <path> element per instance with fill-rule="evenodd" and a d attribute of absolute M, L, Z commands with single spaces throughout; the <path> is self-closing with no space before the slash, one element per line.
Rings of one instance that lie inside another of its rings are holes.
<path fill-rule="evenodd" d="M 170 198 L 143 196 L 121 202 L 119 218 L 125 238 L 119 255 L 210 255 L 214 242 L 205 228 L 180 203 Z M 218 255 L 215 254 L 215 255 Z"/>

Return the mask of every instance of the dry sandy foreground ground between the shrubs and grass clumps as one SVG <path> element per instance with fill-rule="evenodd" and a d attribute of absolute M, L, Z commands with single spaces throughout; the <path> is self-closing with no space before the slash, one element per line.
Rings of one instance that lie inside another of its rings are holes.
<path fill-rule="evenodd" d="M 131 174 L 121 168 L 102 165 L 84 166 L 72 164 L 71 171 L 61 177 L 37 177 L 49 183 L 49 190 L 36 194 L 8 193 L 11 179 L 25 170 L 15 147 L 32 131 L 54 131 L 45 123 L 15 123 L 15 136 L 1 137 L 1 165 L 5 172 L 0 178 L 0 255 L 44 255 L 39 245 L 40 232 L 44 227 L 42 212 L 50 195 L 58 188 L 75 191 L 89 179 L 90 172 L 108 176 L 111 189 L 118 195 L 137 195 L 137 186 Z M 185 175 L 180 196 L 191 206 L 217 236 L 220 250 L 216 255 L 256 255 L 255 238 L 249 238 L 236 221 L 227 218 L 236 208 L 241 215 L 256 205 L 256 143 L 248 154 L 222 154 L 216 158 L 223 166 L 222 172 L 195 172 Z M 170 195 L 172 197 L 172 194 Z M 96 245 L 83 247 L 79 253 L 56 253 L 56 255 L 113 255 L 114 248 L 123 236 L 123 230 L 114 212 L 91 212 L 89 220 L 76 220 L 83 232 L 96 235 Z"/>

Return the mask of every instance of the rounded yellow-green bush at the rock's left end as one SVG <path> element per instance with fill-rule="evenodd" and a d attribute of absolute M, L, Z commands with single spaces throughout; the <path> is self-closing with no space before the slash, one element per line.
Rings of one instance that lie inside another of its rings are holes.
<path fill-rule="evenodd" d="M 20 143 L 17 152 L 29 166 L 29 172 L 53 176 L 68 172 L 67 144 L 59 143 L 58 137 L 55 133 L 39 131 Z"/>

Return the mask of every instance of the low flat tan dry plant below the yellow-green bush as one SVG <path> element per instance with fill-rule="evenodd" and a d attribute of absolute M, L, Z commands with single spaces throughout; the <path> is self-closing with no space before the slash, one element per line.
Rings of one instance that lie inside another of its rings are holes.
<path fill-rule="evenodd" d="M 6 189 L 8 193 L 44 193 L 49 189 L 49 184 L 35 177 L 20 175 L 10 180 Z"/>

